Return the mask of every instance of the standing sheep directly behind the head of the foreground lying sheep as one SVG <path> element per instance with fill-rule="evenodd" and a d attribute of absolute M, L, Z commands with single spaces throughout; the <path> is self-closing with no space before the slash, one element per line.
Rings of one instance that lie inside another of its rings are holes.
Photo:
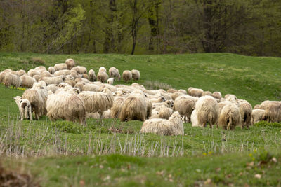
<path fill-rule="evenodd" d="M 181 116 L 184 116 L 185 123 L 187 122 L 186 117 L 190 120 L 191 113 L 195 109 L 195 102 L 196 99 L 193 98 L 177 98 L 174 102 L 174 111 L 178 111 Z"/>

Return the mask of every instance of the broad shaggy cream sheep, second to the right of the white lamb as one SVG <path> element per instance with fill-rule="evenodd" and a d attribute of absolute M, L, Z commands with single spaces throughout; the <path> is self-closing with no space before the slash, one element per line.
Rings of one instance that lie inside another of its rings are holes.
<path fill-rule="evenodd" d="M 68 121 L 79 120 L 86 125 L 86 110 L 84 102 L 70 92 L 59 92 L 48 96 L 46 102 L 47 116 L 51 121 L 63 118 Z"/>

